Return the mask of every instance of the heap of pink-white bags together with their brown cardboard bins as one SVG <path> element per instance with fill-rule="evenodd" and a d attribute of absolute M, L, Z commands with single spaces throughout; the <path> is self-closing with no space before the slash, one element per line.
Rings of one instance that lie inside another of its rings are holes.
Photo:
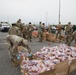
<path fill-rule="evenodd" d="M 68 75 L 68 70 L 71 70 L 69 63 L 76 59 L 75 48 L 65 44 L 56 47 L 43 47 L 34 56 L 36 59 L 24 59 L 21 62 L 22 75 Z M 74 62 L 72 63 L 74 64 Z M 75 65 L 72 65 L 74 67 L 72 71 L 75 69 Z"/>

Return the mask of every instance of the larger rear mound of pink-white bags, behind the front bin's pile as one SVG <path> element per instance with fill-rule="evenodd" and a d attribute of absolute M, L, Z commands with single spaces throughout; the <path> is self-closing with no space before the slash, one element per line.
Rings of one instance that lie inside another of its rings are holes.
<path fill-rule="evenodd" d="M 76 58 L 76 48 L 66 46 L 65 44 L 61 44 L 59 46 L 51 48 L 43 47 L 41 51 L 36 52 L 35 55 L 43 60 L 58 59 L 60 61 L 64 61 L 66 59 L 69 60 L 69 58 Z"/>

